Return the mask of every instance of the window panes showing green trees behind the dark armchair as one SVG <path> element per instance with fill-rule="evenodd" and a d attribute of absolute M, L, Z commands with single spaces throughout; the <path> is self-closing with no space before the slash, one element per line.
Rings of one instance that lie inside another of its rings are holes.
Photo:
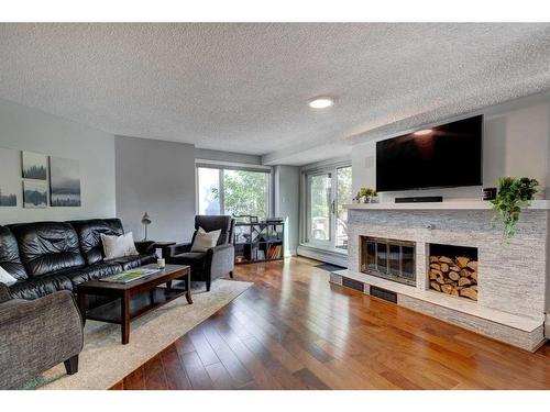
<path fill-rule="evenodd" d="M 267 218 L 270 170 L 197 167 L 199 214 L 231 214 Z"/>

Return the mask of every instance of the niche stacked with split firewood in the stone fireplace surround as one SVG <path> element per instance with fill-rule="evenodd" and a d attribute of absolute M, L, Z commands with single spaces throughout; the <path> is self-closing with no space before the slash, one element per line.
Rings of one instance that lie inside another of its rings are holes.
<path fill-rule="evenodd" d="M 454 297 L 477 300 L 477 248 L 429 245 L 430 289 Z"/>

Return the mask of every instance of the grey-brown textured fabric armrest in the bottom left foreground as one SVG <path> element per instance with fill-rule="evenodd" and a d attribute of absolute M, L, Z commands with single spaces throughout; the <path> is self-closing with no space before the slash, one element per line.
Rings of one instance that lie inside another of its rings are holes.
<path fill-rule="evenodd" d="M 16 388 L 78 355 L 84 330 L 69 291 L 0 303 L 0 388 Z"/>

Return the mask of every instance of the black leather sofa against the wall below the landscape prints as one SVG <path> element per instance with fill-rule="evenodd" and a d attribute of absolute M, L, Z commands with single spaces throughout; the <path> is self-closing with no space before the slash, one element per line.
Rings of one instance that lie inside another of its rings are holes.
<path fill-rule="evenodd" d="M 32 300 L 61 290 L 76 292 L 84 281 L 156 261 L 153 242 L 136 243 L 139 256 L 105 260 L 101 233 L 121 235 L 124 230 L 119 219 L 0 226 L 0 266 L 18 279 L 0 287 L 12 299 Z"/>

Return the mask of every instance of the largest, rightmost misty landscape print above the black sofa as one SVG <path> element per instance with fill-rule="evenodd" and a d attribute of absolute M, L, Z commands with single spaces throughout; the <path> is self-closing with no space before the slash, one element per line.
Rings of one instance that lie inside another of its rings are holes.
<path fill-rule="evenodd" d="M 50 204 L 52 207 L 81 204 L 78 160 L 50 157 Z"/>

